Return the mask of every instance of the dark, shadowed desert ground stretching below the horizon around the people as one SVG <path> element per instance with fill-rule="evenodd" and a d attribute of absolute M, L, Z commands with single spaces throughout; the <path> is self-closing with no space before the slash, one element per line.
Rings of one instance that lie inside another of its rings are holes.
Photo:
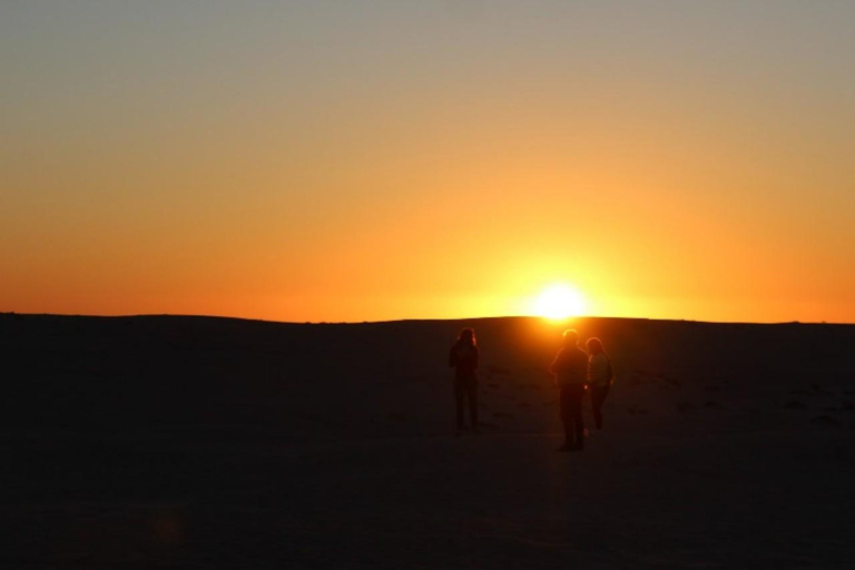
<path fill-rule="evenodd" d="M 617 380 L 573 454 L 562 326 L 0 315 L 0 567 L 853 568 L 855 325 L 577 320 Z"/>

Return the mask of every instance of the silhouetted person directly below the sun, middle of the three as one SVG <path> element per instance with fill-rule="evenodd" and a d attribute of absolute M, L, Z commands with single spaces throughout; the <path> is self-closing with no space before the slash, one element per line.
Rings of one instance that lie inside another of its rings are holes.
<path fill-rule="evenodd" d="M 584 449 L 582 399 L 588 377 L 588 355 L 579 348 L 576 331 L 564 331 L 564 346 L 558 351 L 550 371 L 560 389 L 559 406 L 564 424 L 564 444 L 558 451 L 581 451 Z"/>

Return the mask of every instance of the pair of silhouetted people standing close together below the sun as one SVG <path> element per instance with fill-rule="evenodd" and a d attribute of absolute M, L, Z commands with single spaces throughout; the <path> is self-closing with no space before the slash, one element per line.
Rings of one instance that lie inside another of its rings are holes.
<path fill-rule="evenodd" d="M 579 347 L 579 333 L 564 331 L 564 346 L 550 367 L 560 390 L 559 407 L 564 424 L 564 443 L 558 451 L 584 449 L 582 400 L 589 387 L 593 421 L 602 430 L 602 405 L 612 382 L 611 362 L 599 338 L 589 338 L 587 345 L 588 353 Z"/>

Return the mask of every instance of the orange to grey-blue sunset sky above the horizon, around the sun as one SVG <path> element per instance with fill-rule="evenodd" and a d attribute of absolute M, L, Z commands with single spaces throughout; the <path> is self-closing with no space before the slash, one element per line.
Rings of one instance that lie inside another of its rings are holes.
<path fill-rule="evenodd" d="M 0 3 L 0 311 L 855 323 L 855 3 Z"/>

